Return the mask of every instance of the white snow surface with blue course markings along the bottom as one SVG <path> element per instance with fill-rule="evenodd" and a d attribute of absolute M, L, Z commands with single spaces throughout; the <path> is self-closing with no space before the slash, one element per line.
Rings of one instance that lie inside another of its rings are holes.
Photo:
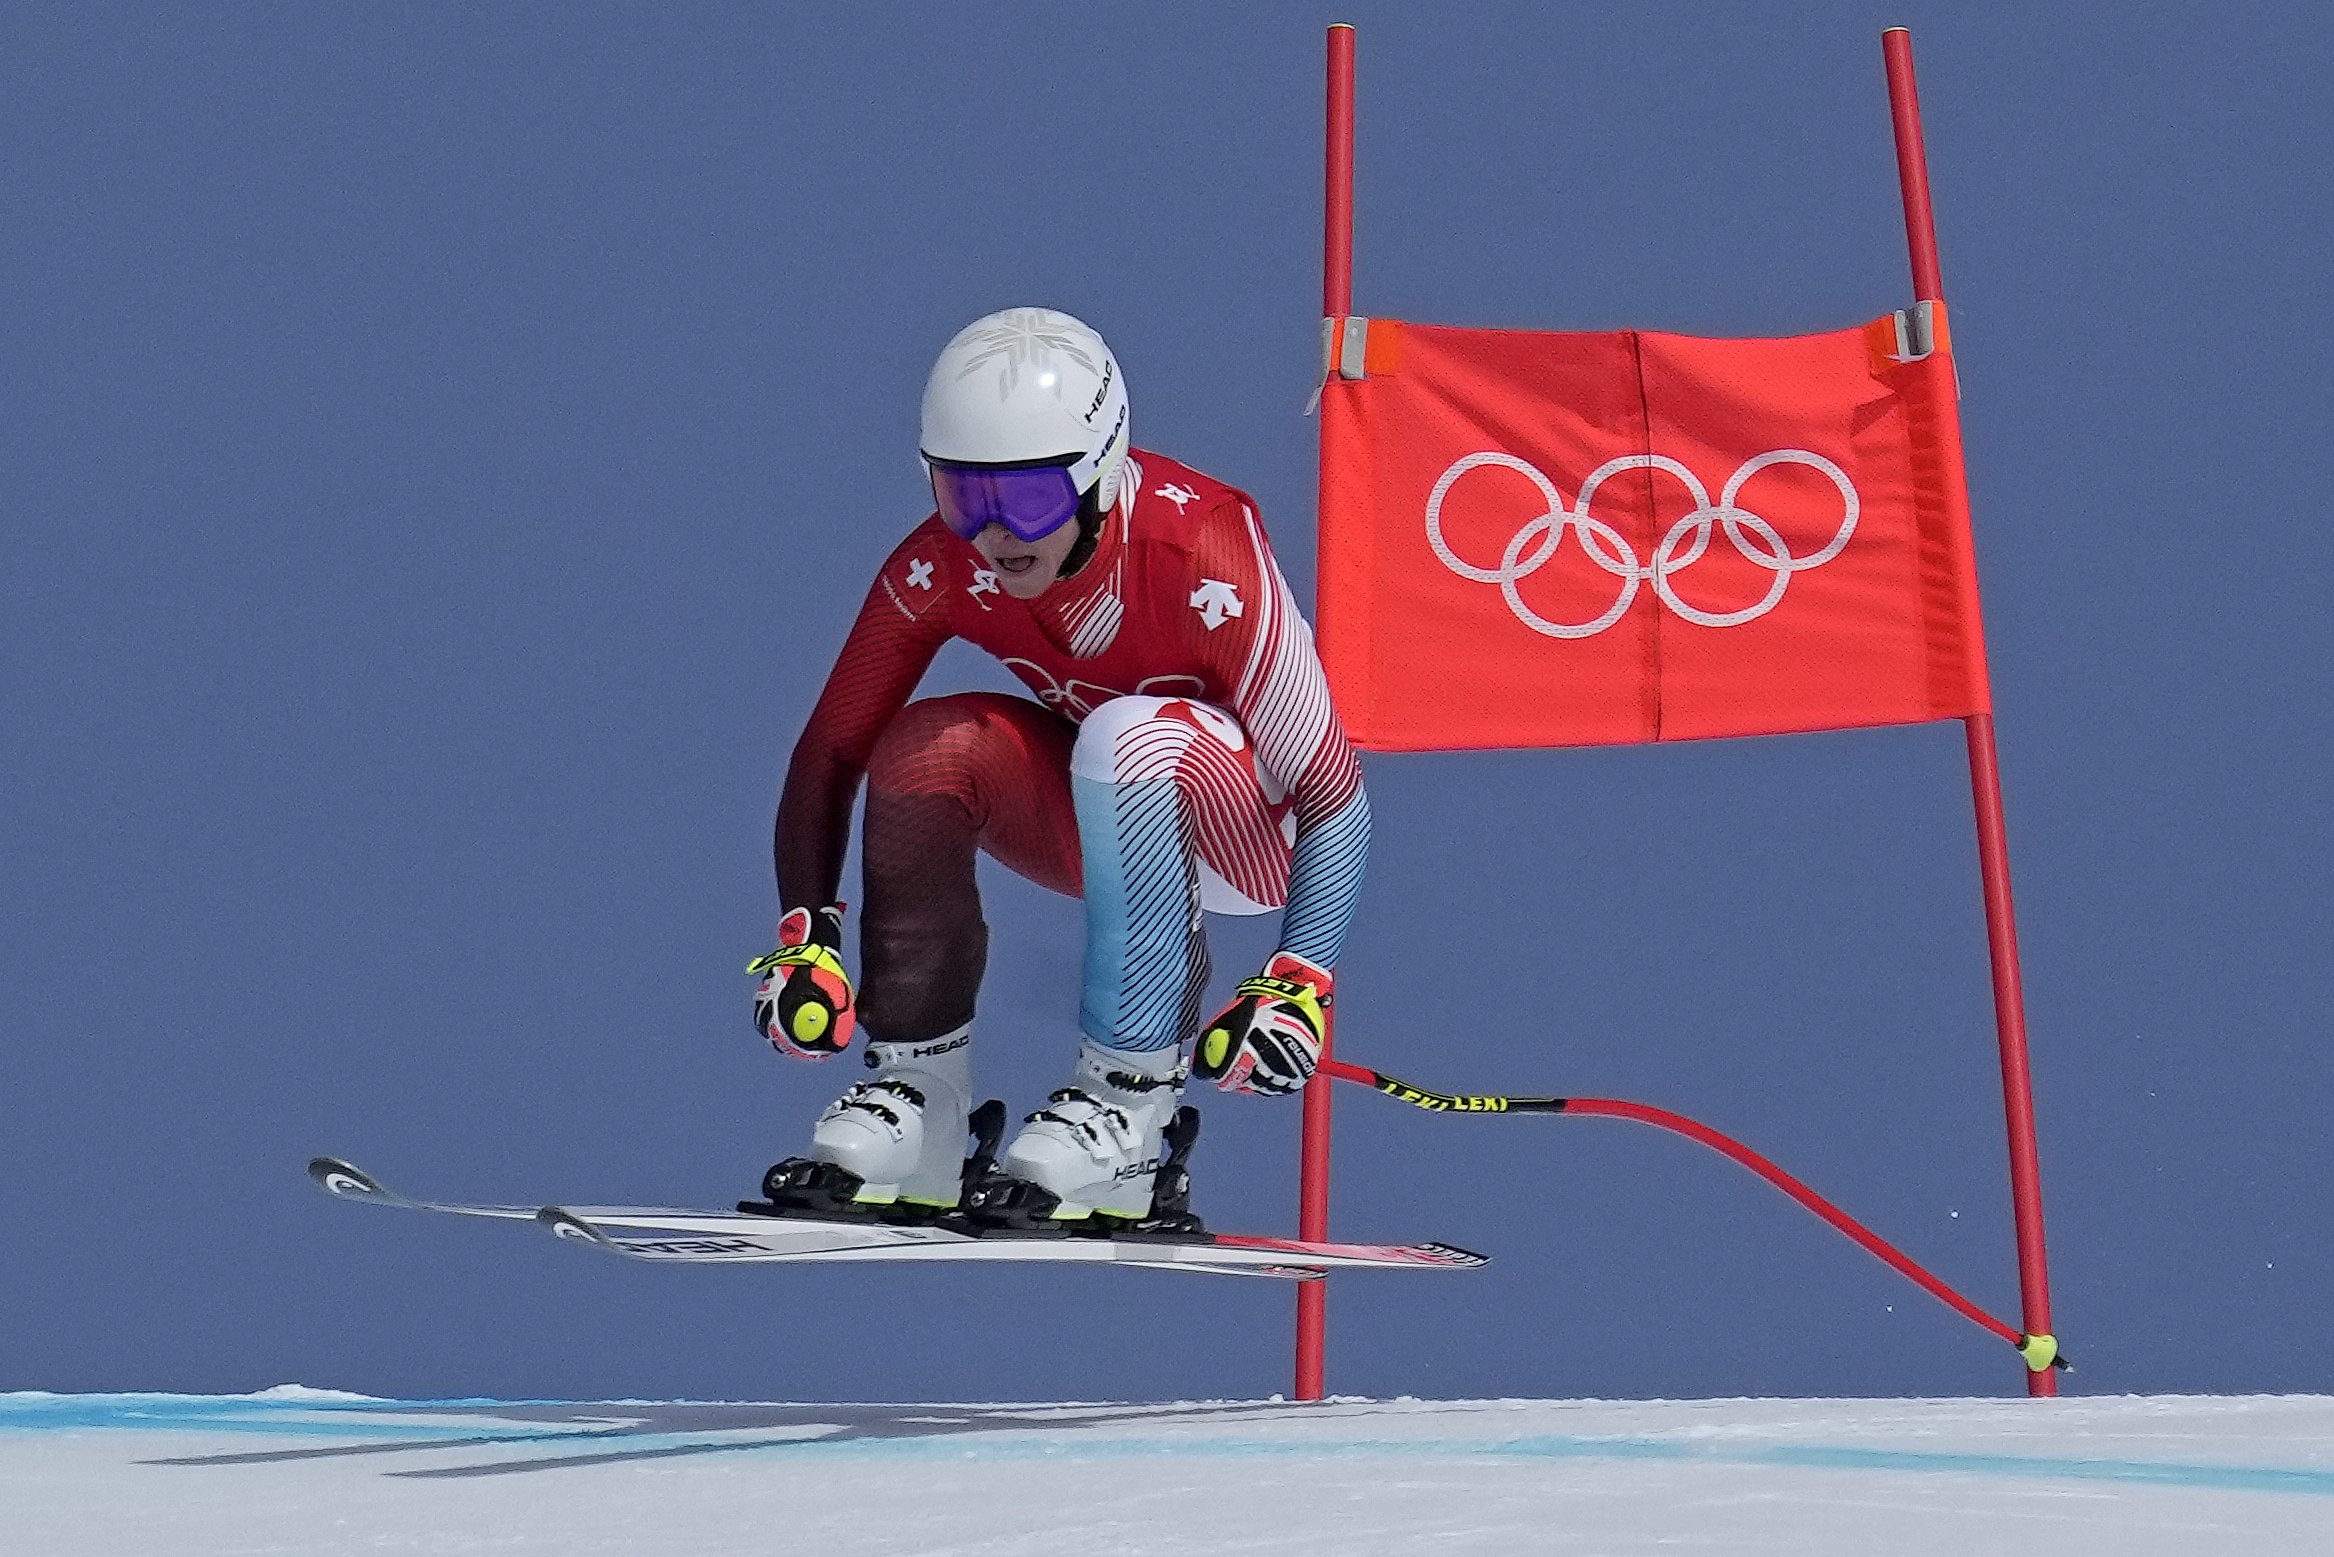
<path fill-rule="evenodd" d="M 0 1510 L 42 1557 L 2334 1552 L 2334 1398 L 0 1394 Z"/>

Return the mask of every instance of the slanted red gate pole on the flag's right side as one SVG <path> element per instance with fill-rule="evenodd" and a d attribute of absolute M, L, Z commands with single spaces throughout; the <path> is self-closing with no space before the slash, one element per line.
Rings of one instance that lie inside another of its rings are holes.
<path fill-rule="evenodd" d="M 1881 33 L 1888 65 L 1888 114 L 1895 121 L 1898 182 L 1905 189 L 1905 243 L 1919 301 L 1944 303 L 1937 271 L 1937 222 L 1928 203 L 1928 152 L 1921 145 L 1921 96 L 1912 79 L 1912 33 Z M 1958 479 L 1961 472 L 1954 472 Z M 1984 635 L 1979 635 L 1984 642 Z M 1984 651 L 1984 649 L 1979 649 Z M 2042 1162 L 2035 1151 L 2035 1099 L 2026 1062 L 2026 997 L 2019 990 L 2019 927 L 2010 906 L 2010 836 L 2003 826 L 2003 770 L 1993 749 L 1993 714 L 1970 714 L 1970 789 L 1977 798 L 1977 868 L 1986 889 L 1986 950 L 1993 959 L 1993 1022 L 2003 1048 L 2003 1116 L 2010 1130 L 2010 1205 L 2019 1233 L 2019 1303 L 2028 1335 L 2049 1335 L 2049 1261 L 2042 1249 Z M 2028 1368 L 2026 1394 L 2059 1394 L 2059 1375 Z"/>

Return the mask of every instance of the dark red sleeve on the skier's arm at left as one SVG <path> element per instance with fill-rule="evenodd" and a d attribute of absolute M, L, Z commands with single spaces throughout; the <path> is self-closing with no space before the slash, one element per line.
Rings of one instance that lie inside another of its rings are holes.
<path fill-rule="evenodd" d="M 794 742 L 773 840 L 780 908 L 836 901 L 868 756 L 952 637 L 955 567 L 936 530 L 927 521 L 885 560 Z"/>

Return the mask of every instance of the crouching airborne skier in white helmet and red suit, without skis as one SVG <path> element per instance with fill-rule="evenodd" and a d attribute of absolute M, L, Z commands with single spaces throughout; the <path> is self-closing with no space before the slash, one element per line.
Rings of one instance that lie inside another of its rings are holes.
<path fill-rule="evenodd" d="M 1319 1064 L 1368 854 L 1361 763 L 1256 504 L 1127 439 L 1125 376 L 1067 313 L 980 317 L 931 369 L 938 511 L 875 577 L 777 808 L 784 913 L 780 948 L 749 966 L 754 1022 L 817 1060 L 857 1018 L 873 1071 L 819 1116 L 805 1158 L 770 1170 L 780 1212 L 959 1207 L 980 850 L 1085 899 L 1076 1069 L 973 1186 L 983 1219 L 1141 1223 L 1186 1076 L 1284 1095 Z M 1034 698 L 908 703 L 950 637 Z M 861 777 L 854 1004 L 836 892 Z M 1204 1029 L 1202 908 L 1284 908 L 1279 950 Z"/>

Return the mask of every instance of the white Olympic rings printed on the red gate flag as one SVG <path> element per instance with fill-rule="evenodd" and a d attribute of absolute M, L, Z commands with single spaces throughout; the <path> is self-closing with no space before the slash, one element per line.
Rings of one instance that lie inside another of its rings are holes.
<path fill-rule="evenodd" d="M 1793 556 L 1790 544 L 1776 532 L 1774 525 L 1734 502 L 1741 495 L 1743 483 L 1772 465 L 1807 465 L 1839 488 L 1839 530 L 1821 551 L 1804 558 Z M 1505 551 L 1498 556 L 1498 567 L 1477 567 L 1452 551 L 1449 542 L 1442 539 L 1442 500 L 1449 497 L 1461 476 L 1484 467 L 1512 469 L 1531 481 L 1547 504 L 1538 518 L 1529 521 L 1508 539 Z M 1629 537 L 1589 514 L 1589 502 L 1596 497 L 1596 488 L 1620 472 L 1631 469 L 1669 472 L 1683 481 L 1685 490 L 1694 497 L 1694 511 L 1669 528 L 1662 544 L 1652 549 L 1650 563 L 1638 563 L 1636 549 L 1629 546 Z M 1636 600 L 1641 584 L 1650 584 L 1662 605 L 1694 626 L 1739 628 L 1741 623 L 1772 612 L 1783 600 L 1783 591 L 1790 588 L 1793 574 L 1823 567 L 1837 558 L 1846 549 L 1849 537 L 1856 535 L 1856 516 L 1860 511 L 1863 500 L 1858 500 L 1856 483 L 1849 481 L 1849 474 L 1823 455 L 1804 448 L 1774 448 L 1743 460 L 1741 469 L 1727 476 L 1715 504 L 1711 502 L 1711 490 L 1701 486 L 1701 479 L 1676 460 L 1664 455 L 1622 455 L 1617 460 L 1606 460 L 1589 472 L 1589 479 L 1580 483 L 1580 500 L 1571 507 L 1564 504 L 1564 495 L 1557 493 L 1557 486 L 1526 460 L 1517 460 L 1505 453 L 1480 453 L 1456 460 L 1447 472 L 1442 472 L 1442 479 L 1435 481 L 1435 490 L 1426 497 L 1426 544 L 1433 546 L 1435 556 L 1442 558 L 1442 565 L 1461 579 L 1496 584 L 1498 593 L 1508 600 L 1508 609 L 1515 612 L 1515 619 L 1533 633 L 1545 633 L 1547 637 L 1596 637 L 1622 619 L 1629 602 Z M 1517 591 L 1517 584 L 1554 560 L 1557 549 L 1564 546 L 1566 530 L 1580 532 L 1580 551 L 1589 563 L 1620 579 L 1620 598 L 1592 621 L 1547 621 L 1524 605 L 1524 595 Z M 1680 600 L 1676 586 L 1671 584 L 1676 574 L 1701 560 L 1718 530 L 1725 530 L 1727 542 L 1746 563 L 1765 567 L 1774 574 L 1767 593 L 1739 612 L 1704 612 L 1701 607 Z"/>

